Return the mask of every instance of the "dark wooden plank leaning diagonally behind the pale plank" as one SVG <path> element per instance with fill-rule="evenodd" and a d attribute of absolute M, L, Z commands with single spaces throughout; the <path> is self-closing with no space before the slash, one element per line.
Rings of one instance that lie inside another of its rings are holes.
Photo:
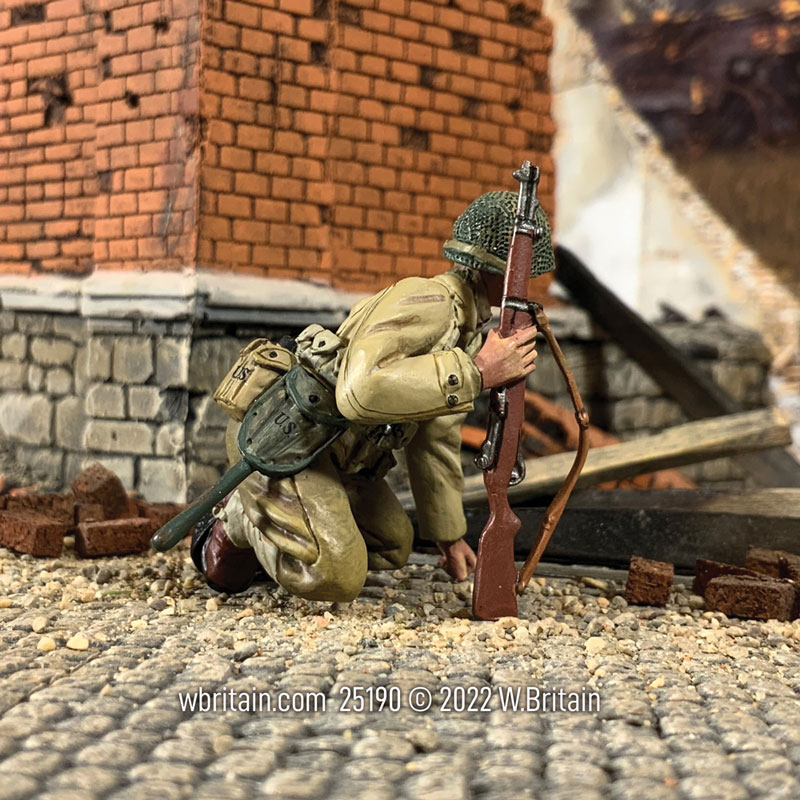
<path fill-rule="evenodd" d="M 555 254 L 556 280 L 689 419 L 743 410 L 685 354 L 604 286 L 574 253 L 558 246 Z M 759 485 L 800 488 L 800 464 L 786 451 L 743 455 L 737 460 Z"/>

